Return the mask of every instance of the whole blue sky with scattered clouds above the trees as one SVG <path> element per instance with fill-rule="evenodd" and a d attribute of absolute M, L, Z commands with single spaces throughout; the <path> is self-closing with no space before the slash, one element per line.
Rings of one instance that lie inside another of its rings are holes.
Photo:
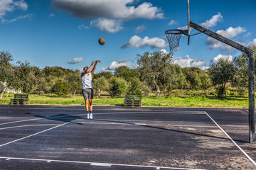
<path fill-rule="evenodd" d="M 255 0 L 190 0 L 193 23 L 245 46 L 256 45 L 255 17 Z M 169 52 L 165 31 L 186 25 L 187 0 L 0 0 L 0 50 L 41 69 L 82 69 L 92 60 L 102 61 L 97 72 L 134 68 L 137 54 Z M 182 36 L 174 63 L 207 69 L 239 54 L 207 35 L 192 36 L 190 45 Z"/>

